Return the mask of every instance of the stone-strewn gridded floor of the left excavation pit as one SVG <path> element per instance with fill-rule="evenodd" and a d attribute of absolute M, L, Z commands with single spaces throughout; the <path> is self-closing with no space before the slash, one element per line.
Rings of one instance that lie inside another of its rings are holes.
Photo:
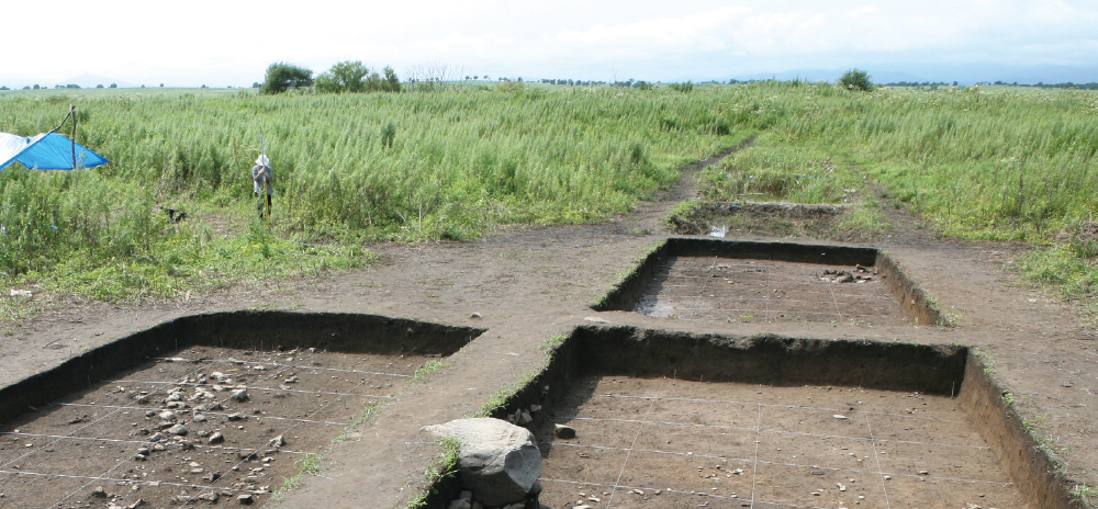
<path fill-rule="evenodd" d="M 315 349 L 173 352 L 0 428 L 0 508 L 261 504 L 306 452 L 323 452 L 424 362 Z"/>

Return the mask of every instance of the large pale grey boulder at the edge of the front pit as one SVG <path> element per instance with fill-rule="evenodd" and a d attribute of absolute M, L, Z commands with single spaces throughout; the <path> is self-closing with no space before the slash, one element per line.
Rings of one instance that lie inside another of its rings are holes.
<path fill-rule="evenodd" d="M 534 433 L 491 418 L 458 419 L 425 431 L 461 443 L 458 471 L 464 488 L 488 507 L 522 501 L 541 475 Z"/>

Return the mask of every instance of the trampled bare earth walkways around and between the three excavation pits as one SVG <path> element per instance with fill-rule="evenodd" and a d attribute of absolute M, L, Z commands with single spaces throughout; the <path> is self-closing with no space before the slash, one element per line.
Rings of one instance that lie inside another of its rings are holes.
<path fill-rule="evenodd" d="M 889 210 L 894 231 L 871 246 L 887 250 L 908 278 L 937 298 L 943 309 L 954 314 L 959 326 L 953 328 L 909 324 L 869 328 L 849 320 L 671 323 L 634 312 L 591 310 L 589 303 L 610 289 L 648 247 L 668 236 L 662 216 L 675 200 L 692 194 L 691 185 L 686 177 L 663 200 L 643 203 L 632 214 L 597 225 L 511 226 L 463 244 L 371 246 L 383 262 L 316 280 L 234 290 L 156 306 L 93 304 L 59 308 L 19 324 L 10 330 L 10 336 L 0 339 L 0 383 L 10 384 L 56 365 L 85 348 L 200 312 L 265 307 L 372 313 L 489 329 L 449 358 L 449 366 L 433 374 L 426 383 L 407 386 L 383 403 L 377 417 L 351 429 L 349 440 L 325 449 L 321 475 L 306 475 L 301 487 L 278 505 L 327 509 L 393 507 L 408 499 L 421 483 L 424 467 L 437 454 L 437 446 L 422 443 L 417 433 L 421 427 L 471 415 L 502 387 L 540 363 L 539 346 L 546 338 L 590 323 L 589 318 L 697 332 L 965 343 L 991 353 L 997 376 L 1013 394 L 1027 419 L 1039 422 L 1052 438 L 1051 446 L 1069 476 L 1098 484 L 1095 336 L 1068 307 L 1039 291 L 1020 286 L 1013 274 L 1000 268 L 1001 262 L 1024 247 L 942 240 L 933 231 L 918 228 L 917 220 L 904 211 Z M 752 238 L 758 237 L 741 237 Z M 132 417 L 130 422 L 144 420 Z M 130 426 L 128 430 L 132 429 Z M 292 442 L 289 448 L 305 450 Z M 111 452 L 121 460 L 123 449 L 128 454 L 131 448 L 119 446 Z M 798 456 L 800 452 L 809 451 L 797 450 Z M 213 453 L 210 456 L 214 457 Z M 274 463 L 289 461 L 279 459 Z M 224 460 L 221 465 L 225 465 Z M 799 475 L 789 476 L 794 474 Z M 892 482 L 900 484 L 898 480 Z M 54 483 L 58 493 L 69 489 L 69 484 L 78 484 L 67 478 L 56 478 Z M 920 488 L 941 487 L 933 479 L 916 483 Z M 770 489 L 775 485 L 781 486 L 774 482 L 759 486 Z M 829 490 L 833 486 L 830 478 L 819 486 L 806 485 Z M 805 495 L 802 491 L 788 496 Z M 11 497 L 12 494 L 5 494 L 0 500 Z M 901 502 L 892 498 L 890 501 L 894 507 Z M 1007 500 L 1002 507 L 1012 507 L 1009 504 Z M 104 506 L 105 502 L 100 502 L 100 507 Z"/>

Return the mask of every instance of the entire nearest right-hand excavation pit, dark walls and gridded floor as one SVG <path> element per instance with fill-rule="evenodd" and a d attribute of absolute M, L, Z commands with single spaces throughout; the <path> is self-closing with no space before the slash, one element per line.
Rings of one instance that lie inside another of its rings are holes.
<path fill-rule="evenodd" d="M 1001 394 L 961 346 L 589 326 L 493 417 L 541 407 L 552 509 L 1084 507 Z"/>

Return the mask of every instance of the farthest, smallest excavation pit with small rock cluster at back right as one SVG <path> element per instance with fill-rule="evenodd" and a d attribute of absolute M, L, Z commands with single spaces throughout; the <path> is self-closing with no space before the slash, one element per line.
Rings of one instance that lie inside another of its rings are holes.
<path fill-rule="evenodd" d="M 887 253 L 789 242 L 670 238 L 592 307 L 710 323 L 944 325 Z"/>

